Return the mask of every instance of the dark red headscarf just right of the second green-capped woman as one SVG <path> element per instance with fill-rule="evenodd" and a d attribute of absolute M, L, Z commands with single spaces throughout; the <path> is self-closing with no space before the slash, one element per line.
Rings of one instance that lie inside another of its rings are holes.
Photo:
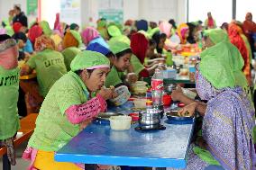
<path fill-rule="evenodd" d="M 142 33 L 135 33 L 131 38 L 131 49 L 133 54 L 144 64 L 146 52 L 149 47 L 149 40 Z"/>

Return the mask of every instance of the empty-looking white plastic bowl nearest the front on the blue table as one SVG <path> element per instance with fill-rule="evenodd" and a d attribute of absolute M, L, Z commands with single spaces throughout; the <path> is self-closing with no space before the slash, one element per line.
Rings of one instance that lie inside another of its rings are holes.
<path fill-rule="evenodd" d="M 132 117 L 130 116 L 111 116 L 110 128 L 112 130 L 129 130 L 131 128 Z"/>

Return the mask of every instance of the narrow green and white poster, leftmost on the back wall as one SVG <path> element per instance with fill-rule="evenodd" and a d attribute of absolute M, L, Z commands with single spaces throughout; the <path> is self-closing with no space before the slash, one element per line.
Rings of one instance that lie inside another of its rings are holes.
<path fill-rule="evenodd" d="M 35 22 L 38 17 L 38 0 L 27 0 L 28 22 Z"/>

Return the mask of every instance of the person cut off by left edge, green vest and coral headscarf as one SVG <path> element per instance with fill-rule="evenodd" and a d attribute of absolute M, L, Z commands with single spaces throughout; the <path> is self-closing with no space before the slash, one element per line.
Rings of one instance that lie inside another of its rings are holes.
<path fill-rule="evenodd" d="M 20 129 L 18 116 L 18 47 L 7 34 L 0 35 L 0 147 L 7 148 L 9 161 L 15 165 L 13 139 Z"/>

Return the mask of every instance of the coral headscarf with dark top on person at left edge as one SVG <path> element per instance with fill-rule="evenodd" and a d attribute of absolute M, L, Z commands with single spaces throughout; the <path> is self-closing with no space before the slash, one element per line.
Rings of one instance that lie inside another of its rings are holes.
<path fill-rule="evenodd" d="M 0 35 L 0 67 L 13 69 L 18 66 L 18 48 L 16 41 L 9 35 Z"/>

